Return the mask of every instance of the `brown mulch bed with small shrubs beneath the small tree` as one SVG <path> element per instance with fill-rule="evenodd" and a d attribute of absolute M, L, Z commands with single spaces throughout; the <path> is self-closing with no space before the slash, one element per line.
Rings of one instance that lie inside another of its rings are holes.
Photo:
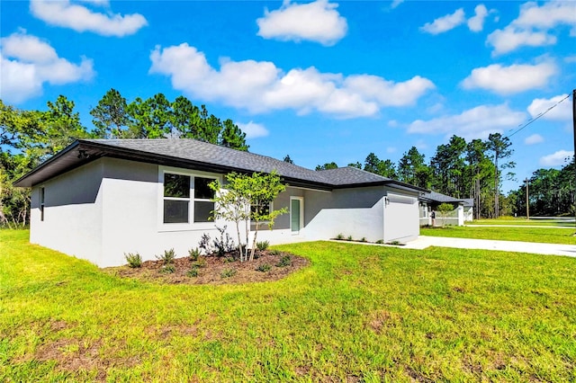
<path fill-rule="evenodd" d="M 298 255 L 266 250 L 257 252 L 255 259 L 247 262 L 239 262 L 237 254 L 227 254 L 200 256 L 197 261 L 190 257 L 176 258 L 167 266 L 163 261 L 146 261 L 140 267 L 125 265 L 104 271 L 141 281 L 219 285 L 277 281 L 309 264 L 310 261 Z"/>

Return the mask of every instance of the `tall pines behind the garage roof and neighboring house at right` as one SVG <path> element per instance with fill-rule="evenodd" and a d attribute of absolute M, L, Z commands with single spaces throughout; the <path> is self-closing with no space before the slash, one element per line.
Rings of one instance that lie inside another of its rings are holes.
<path fill-rule="evenodd" d="M 417 147 L 401 156 L 398 164 L 380 159 L 374 153 L 364 163 L 348 164 L 402 183 L 441 192 L 459 199 L 473 199 L 476 218 L 497 218 L 512 213 L 508 198 L 500 192 L 503 179 L 513 179 L 515 163 L 509 160 L 513 149 L 509 138 L 493 133 L 488 139 L 452 136 L 437 147 L 429 161 Z M 316 166 L 316 170 L 338 167 L 334 162 Z"/>

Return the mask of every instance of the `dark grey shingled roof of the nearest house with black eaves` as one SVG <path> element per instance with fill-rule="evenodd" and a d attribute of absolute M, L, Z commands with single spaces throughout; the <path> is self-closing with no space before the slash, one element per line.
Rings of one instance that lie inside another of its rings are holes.
<path fill-rule="evenodd" d="M 275 170 L 285 183 L 323 190 L 391 184 L 401 189 L 426 191 L 354 167 L 317 172 L 272 157 L 184 138 L 77 140 L 23 176 L 15 185 L 29 187 L 103 156 L 217 173 L 270 173 Z"/>

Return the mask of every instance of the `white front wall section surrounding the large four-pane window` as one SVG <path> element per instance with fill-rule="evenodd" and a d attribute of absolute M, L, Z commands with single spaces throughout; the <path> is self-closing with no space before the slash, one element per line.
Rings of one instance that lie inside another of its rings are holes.
<path fill-rule="evenodd" d="M 216 225 L 228 226 L 229 235 L 238 245 L 234 223 L 221 221 L 195 224 L 163 224 L 163 170 L 218 178 L 185 169 L 105 158 L 103 180 L 103 254 L 99 266 L 125 264 L 125 253 L 139 253 L 144 261 L 174 248 L 177 257 L 188 255 L 198 247 L 202 234 L 212 239 L 218 235 Z M 190 213 L 193 214 L 193 202 Z"/>

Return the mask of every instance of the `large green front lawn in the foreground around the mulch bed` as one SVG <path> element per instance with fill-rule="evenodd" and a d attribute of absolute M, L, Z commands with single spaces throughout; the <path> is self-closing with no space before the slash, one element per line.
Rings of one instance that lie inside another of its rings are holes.
<path fill-rule="evenodd" d="M 576 259 L 317 242 L 237 286 L 121 280 L 0 230 L 0 381 L 574 381 Z"/>

